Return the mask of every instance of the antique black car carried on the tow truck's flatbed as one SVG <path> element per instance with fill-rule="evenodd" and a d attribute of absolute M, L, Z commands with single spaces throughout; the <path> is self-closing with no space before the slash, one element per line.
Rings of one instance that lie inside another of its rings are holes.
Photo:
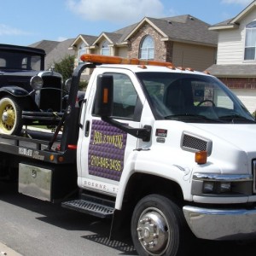
<path fill-rule="evenodd" d="M 63 79 L 44 71 L 44 56 L 43 49 L 0 44 L 0 133 L 17 135 L 23 125 L 51 125 L 61 113 Z M 49 113 L 53 121 L 43 117 L 35 123 L 29 113 Z"/>

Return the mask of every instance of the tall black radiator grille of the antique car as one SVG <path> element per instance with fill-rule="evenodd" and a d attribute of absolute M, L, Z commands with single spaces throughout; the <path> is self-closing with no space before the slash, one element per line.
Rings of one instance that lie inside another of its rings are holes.
<path fill-rule="evenodd" d="M 40 109 L 61 112 L 62 83 L 60 77 L 43 76 L 44 86 L 40 94 Z"/>

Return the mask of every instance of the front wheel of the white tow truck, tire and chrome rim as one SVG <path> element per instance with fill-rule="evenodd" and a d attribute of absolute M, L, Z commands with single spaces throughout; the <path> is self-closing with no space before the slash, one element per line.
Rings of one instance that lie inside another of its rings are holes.
<path fill-rule="evenodd" d="M 142 256 L 185 255 L 183 212 L 161 195 L 148 195 L 137 203 L 131 218 L 131 237 Z"/>

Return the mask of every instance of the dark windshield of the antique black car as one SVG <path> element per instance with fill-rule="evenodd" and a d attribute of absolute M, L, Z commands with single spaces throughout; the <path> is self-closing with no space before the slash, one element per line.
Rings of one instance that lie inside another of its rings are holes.
<path fill-rule="evenodd" d="M 0 70 L 42 70 L 42 55 L 0 50 Z"/>

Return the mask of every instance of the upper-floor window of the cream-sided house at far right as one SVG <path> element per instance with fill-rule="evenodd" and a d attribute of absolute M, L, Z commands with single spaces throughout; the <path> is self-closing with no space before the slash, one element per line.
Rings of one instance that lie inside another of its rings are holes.
<path fill-rule="evenodd" d="M 244 59 L 255 60 L 256 56 L 256 21 L 253 21 L 246 26 L 246 43 Z"/>

